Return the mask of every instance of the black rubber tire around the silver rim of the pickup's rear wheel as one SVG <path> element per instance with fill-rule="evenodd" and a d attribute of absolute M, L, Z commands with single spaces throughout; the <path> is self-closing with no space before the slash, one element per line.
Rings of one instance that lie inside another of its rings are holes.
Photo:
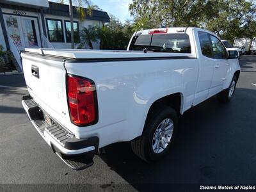
<path fill-rule="evenodd" d="M 156 153 L 153 150 L 152 142 L 153 136 L 155 135 L 156 129 L 159 127 L 161 122 L 166 118 L 170 118 L 173 122 L 173 134 L 170 138 L 169 144 L 164 148 L 163 152 Z M 177 132 L 178 115 L 177 112 L 168 106 L 161 106 L 153 111 L 148 116 L 147 122 L 145 123 L 143 134 L 131 141 L 131 147 L 138 157 L 144 161 L 150 163 L 161 159 L 166 155 L 170 147 L 172 146 L 173 139 Z"/>

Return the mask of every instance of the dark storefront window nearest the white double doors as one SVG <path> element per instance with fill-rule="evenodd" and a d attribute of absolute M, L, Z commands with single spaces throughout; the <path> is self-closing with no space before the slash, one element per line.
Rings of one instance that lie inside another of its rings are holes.
<path fill-rule="evenodd" d="M 47 31 L 50 42 L 64 42 L 61 20 L 46 19 Z"/>

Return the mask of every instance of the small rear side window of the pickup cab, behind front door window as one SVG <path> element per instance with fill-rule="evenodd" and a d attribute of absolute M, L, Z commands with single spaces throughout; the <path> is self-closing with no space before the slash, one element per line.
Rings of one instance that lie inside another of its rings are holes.
<path fill-rule="evenodd" d="M 202 54 L 207 57 L 212 57 L 212 43 L 211 39 L 209 38 L 208 33 L 205 32 L 198 32 L 198 37 L 200 40 L 200 47 Z"/>

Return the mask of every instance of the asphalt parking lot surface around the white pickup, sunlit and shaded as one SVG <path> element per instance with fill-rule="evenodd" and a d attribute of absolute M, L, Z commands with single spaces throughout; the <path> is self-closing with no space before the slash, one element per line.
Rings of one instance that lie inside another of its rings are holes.
<path fill-rule="evenodd" d="M 0 76 L 0 183 L 90 184 L 86 189 L 141 190 L 145 184 L 255 184 L 256 56 L 243 56 L 234 99 L 216 97 L 180 118 L 172 150 L 156 164 L 116 143 L 82 171 L 68 168 L 40 137 L 21 105 L 22 74 Z"/>

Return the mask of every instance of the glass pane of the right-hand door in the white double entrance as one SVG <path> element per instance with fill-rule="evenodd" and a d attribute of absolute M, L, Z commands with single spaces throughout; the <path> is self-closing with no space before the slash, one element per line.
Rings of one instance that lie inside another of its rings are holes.
<path fill-rule="evenodd" d="M 24 33 L 25 46 L 27 48 L 41 47 L 38 20 L 32 17 L 20 17 L 20 20 Z"/>

